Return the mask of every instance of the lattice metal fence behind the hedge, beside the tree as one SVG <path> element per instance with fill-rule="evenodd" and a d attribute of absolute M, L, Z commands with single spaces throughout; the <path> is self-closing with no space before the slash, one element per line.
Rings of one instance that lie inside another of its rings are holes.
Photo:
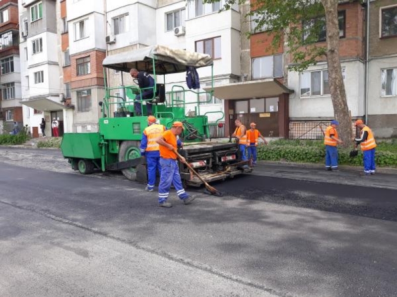
<path fill-rule="evenodd" d="M 331 121 L 306 121 L 306 122 L 289 122 L 289 139 L 323 139 L 327 127 Z M 354 135 L 357 135 L 354 122 L 351 123 Z"/>

